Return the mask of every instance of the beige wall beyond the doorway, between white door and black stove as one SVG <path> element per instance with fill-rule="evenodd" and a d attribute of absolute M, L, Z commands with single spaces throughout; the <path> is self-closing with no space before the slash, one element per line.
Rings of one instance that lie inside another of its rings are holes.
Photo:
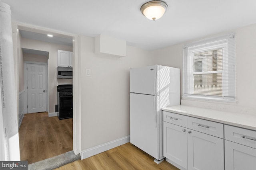
<path fill-rule="evenodd" d="M 21 40 L 21 47 L 26 49 L 34 49 L 49 52 L 49 73 L 48 73 L 48 90 L 49 90 L 49 113 L 54 112 L 54 105 L 57 104 L 57 85 L 72 84 L 72 79 L 58 78 L 57 79 L 57 55 L 58 49 L 72 51 L 72 47 L 66 45 L 58 45 L 44 41 L 36 41 L 32 39 Z"/>

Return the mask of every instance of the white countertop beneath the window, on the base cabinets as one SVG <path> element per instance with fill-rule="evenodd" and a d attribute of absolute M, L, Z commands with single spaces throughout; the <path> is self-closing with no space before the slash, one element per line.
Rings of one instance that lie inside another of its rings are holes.
<path fill-rule="evenodd" d="M 162 110 L 256 131 L 256 115 L 232 113 L 185 105 L 164 107 Z"/>

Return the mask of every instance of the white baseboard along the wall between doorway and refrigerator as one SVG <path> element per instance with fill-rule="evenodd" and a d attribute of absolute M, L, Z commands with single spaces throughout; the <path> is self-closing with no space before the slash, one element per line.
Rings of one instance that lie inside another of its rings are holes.
<path fill-rule="evenodd" d="M 83 150 L 81 152 L 81 160 L 85 158 L 89 158 L 90 156 L 99 154 L 101 152 L 105 152 L 106 150 L 118 147 L 120 145 L 124 145 L 125 143 L 128 143 L 128 142 L 130 142 L 130 135 L 120 139 L 116 139 L 108 143 L 104 143 L 102 145 L 98 145 L 90 149 Z"/>

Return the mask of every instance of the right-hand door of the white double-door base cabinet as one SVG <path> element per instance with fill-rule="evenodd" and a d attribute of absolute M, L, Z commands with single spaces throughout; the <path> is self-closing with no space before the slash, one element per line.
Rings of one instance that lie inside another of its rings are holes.
<path fill-rule="evenodd" d="M 188 170 L 224 170 L 224 140 L 188 129 Z"/>

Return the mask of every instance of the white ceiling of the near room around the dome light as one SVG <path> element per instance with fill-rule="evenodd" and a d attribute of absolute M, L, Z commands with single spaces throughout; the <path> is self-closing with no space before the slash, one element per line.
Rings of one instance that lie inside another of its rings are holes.
<path fill-rule="evenodd" d="M 12 20 L 76 35 L 108 35 L 155 50 L 256 23 L 256 0 L 165 0 L 152 21 L 140 12 L 147 0 L 2 0 Z"/>

